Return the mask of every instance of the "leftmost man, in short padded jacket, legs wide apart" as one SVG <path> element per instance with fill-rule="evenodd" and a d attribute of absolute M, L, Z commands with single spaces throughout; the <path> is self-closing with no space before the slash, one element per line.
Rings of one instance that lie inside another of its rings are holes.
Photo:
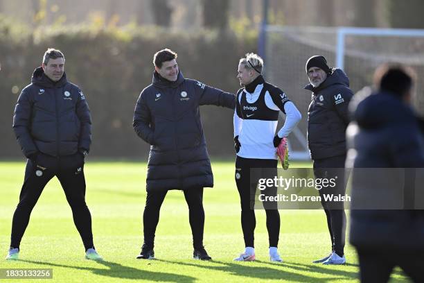
<path fill-rule="evenodd" d="M 13 130 L 28 162 L 13 215 L 8 259 L 17 259 L 30 213 L 54 176 L 71 206 L 87 259 L 100 259 L 94 250 L 91 215 L 85 203 L 83 169 L 91 144 L 91 117 L 81 89 L 67 80 L 64 62 L 61 51 L 48 49 L 42 67 L 35 69 L 15 108 Z"/>

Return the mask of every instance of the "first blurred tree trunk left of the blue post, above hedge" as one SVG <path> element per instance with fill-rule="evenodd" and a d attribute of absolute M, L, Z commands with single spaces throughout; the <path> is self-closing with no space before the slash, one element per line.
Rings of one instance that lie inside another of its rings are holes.
<path fill-rule="evenodd" d="M 227 0 L 202 0 L 203 26 L 224 29 L 228 26 L 229 4 Z"/>

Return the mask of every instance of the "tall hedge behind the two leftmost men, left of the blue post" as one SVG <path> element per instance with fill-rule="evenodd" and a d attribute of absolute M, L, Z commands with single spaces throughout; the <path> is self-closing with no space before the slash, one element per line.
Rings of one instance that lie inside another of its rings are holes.
<path fill-rule="evenodd" d="M 93 118 L 90 155 L 147 157 L 149 146 L 136 137 L 132 116 L 141 90 L 152 82 L 153 54 L 165 47 L 173 49 L 186 78 L 234 93 L 239 88 L 238 59 L 248 51 L 256 51 L 257 38 L 254 32 L 170 32 L 134 23 L 118 28 L 101 18 L 87 25 L 57 24 L 39 26 L 32 33 L 19 31 L 19 26 L 0 18 L 3 157 L 22 156 L 11 128 L 13 110 L 19 92 L 30 83 L 48 47 L 64 52 L 67 77 L 87 97 Z M 12 94 L 12 88 L 18 92 Z M 233 156 L 233 112 L 215 106 L 204 106 L 201 112 L 209 153 Z"/>

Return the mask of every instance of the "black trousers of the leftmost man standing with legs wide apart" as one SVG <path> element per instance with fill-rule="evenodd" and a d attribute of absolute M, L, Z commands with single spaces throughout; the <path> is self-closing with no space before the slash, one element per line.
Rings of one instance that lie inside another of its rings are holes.
<path fill-rule="evenodd" d="M 84 157 L 80 154 L 52 157 L 42 153 L 38 155 L 35 164 L 30 160 L 26 162 L 24 185 L 13 214 L 11 247 L 19 248 L 35 203 L 54 176 L 60 181 L 71 206 L 73 223 L 80 233 L 85 249 L 93 247 L 91 214 L 85 203 Z"/>

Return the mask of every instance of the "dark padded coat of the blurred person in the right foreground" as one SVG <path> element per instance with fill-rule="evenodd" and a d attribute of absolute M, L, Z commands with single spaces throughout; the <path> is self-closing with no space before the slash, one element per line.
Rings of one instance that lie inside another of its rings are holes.
<path fill-rule="evenodd" d="M 384 186 L 381 180 L 396 183 L 398 175 L 390 168 L 424 167 L 422 132 L 412 109 L 398 97 L 387 93 L 369 95 L 369 91 L 362 90 L 352 101 L 355 112 L 347 138 L 348 147 L 355 154 L 348 154 L 346 164 L 355 167 L 352 206 L 361 207 L 368 199 L 376 209 L 351 210 L 350 241 L 357 248 L 424 252 L 423 210 L 378 209 L 386 206 L 388 200 L 403 204 L 403 189 L 406 188 L 403 183 Z M 357 171 L 362 168 L 369 170 Z M 356 175 L 359 172 L 369 175 L 368 179 Z M 398 179 L 403 179 L 403 175 Z M 422 184 L 415 189 L 421 191 L 416 196 L 423 194 Z M 390 196 L 399 196 L 399 199 L 388 199 Z M 359 201 L 361 203 L 357 203 Z M 422 205 L 423 202 L 418 203 Z"/>

